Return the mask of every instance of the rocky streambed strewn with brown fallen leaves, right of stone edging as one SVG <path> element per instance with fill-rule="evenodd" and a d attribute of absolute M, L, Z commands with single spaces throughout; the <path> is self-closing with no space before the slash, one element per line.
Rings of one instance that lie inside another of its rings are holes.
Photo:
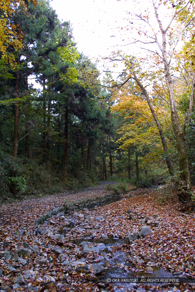
<path fill-rule="evenodd" d="M 4 251 L 0 270 L 11 286 L 2 285 L 1 290 L 193 291 L 193 284 L 185 283 L 108 281 L 193 277 L 194 218 L 155 201 L 155 191 L 137 194 L 109 198 L 114 201 L 104 200 L 104 206 L 60 211 L 31 234 L 26 229 L 16 235 L 18 244 Z"/>

